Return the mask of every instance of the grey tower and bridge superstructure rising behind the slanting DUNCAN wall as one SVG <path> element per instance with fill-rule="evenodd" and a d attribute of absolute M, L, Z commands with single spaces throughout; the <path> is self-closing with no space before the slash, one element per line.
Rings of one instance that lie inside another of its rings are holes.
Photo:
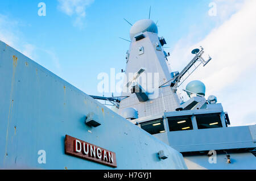
<path fill-rule="evenodd" d="M 166 40 L 152 20 L 133 24 L 130 38 L 118 113 L 182 153 L 189 169 L 256 169 L 256 125 L 229 127 L 228 113 L 216 96 L 204 97 L 201 81 L 181 90 L 188 100 L 177 95 L 185 79 L 212 60 L 203 58 L 204 48 L 193 49 L 195 57 L 179 72 L 169 67 Z"/>

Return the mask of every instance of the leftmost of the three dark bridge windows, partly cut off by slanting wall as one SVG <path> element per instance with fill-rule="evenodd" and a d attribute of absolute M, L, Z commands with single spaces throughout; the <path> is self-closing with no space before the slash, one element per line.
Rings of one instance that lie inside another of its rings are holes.
<path fill-rule="evenodd" d="M 166 132 L 164 130 L 164 125 L 163 125 L 162 119 L 156 119 L 156 120 L 152 120 L 152 121 L 147 121 L 145 123 L 141 123 L 141 128 L 150 134 L 158 134 L 158 133 Z"/>

